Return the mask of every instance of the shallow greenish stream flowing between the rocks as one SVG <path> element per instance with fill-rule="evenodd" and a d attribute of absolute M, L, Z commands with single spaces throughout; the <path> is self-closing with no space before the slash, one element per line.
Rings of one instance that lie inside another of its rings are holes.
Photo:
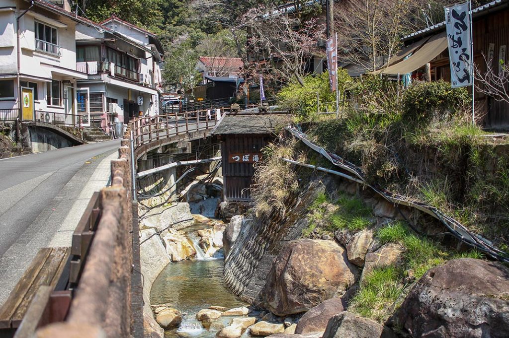
<path fill-rule="evenodd" d="M 217 331 L 227 326 L 232 318 L 221 317 L 209 329 L 202 326 L 195 316 L 209 306 L 237 308 L 247 305 L 234 296 L 223 282 L 224 256 L 222 249 L 214 257 L 206 258 L 198 245 L 198 230 L 211 228 L 195 224 L 183 229 L 193 242 L 196 256 L 192 260 L 169 263 L 157 276 L 150 292 L 151 304 L 172 304 L 182 313 L 182 323 L 176 329 L 165 331 L 165 337 L 215 337 Z"/>

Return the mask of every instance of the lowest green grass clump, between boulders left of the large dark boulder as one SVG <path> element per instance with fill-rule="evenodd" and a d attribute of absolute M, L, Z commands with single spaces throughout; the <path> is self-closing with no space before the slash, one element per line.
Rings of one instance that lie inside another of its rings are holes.
<path fill-rule="evenodd" d="M 382 322 L 403 291 L 401 270 L 390 265 L 374 269 L 360 284 L 349 310 L 362 317 Z"/>

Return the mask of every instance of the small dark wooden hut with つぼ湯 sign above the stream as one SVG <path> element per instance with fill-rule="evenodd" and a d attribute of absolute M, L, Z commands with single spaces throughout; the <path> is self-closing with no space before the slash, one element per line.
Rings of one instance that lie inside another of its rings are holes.
<path fill-rule="evenodd" d="M 263 158 L 262 148 L 277 138 L 276 131 L 290 121 L 288 114 L 253 114 L 250 110 L 219 120 L 212 134 L 221 141 L 224 202 L 251 200 L 253 165 Z"/>

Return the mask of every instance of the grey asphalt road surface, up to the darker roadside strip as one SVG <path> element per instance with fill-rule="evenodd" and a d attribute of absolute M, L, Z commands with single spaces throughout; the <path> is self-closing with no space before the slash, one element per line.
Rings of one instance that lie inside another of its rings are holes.
<path fill-rule="evenodd" d="M 0 160 L 0 259 L 89 159 L 119 146 L 106 141 Z"/>

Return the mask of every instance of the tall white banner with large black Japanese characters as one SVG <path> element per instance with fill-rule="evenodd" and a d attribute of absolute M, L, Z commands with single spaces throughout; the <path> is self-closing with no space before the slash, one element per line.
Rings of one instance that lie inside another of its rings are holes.
<path fill-rule="evenodd" d="M 449 44 L 450 82 L 453 88 L 469 86 L 472 78 L 472 46 L 469 4 L 445 7 L 445 25 Z"/>

